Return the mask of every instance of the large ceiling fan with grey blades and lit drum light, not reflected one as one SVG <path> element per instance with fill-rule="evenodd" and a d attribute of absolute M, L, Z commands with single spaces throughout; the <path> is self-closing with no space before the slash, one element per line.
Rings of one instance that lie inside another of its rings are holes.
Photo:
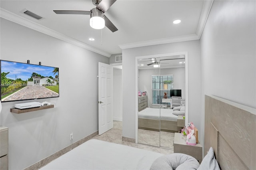
<path fill-rule="evenodd" d="M 92 4 L 96 8 L 92 8 L 90 11 L 74 11 L 74 10 L 53 10 L 56 14 L 80 14 L 90 15 L 90 26 L 94 29 L 102 29 L 105 26 L 112 32 L 118 29 L 114 24 L 104 15 L 104 13 L 114 4 L 116 0 L 92 0 Z"/>

